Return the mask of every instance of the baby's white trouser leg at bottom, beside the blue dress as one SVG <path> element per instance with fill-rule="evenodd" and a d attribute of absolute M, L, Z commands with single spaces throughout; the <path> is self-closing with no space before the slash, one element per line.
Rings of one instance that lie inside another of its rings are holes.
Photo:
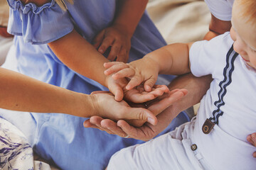
<path fill-rule="evenodd" d="M 112 156 L 107 169 L 202 169 L 190 140 L 181 137 L 186 126 L 189 124 L 142 145 L 120 150 Z"/>

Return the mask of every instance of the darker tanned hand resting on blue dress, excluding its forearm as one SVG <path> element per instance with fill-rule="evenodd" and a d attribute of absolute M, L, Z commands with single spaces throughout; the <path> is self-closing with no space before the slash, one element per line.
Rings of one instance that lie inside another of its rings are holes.
<path fill-rule="evenodd" d="M 102 30 L 94 39 L 94 47 L 104 54 L 111 47 L 107 59 L 110 61 L 127 62 L 131 48 L 131 38 L 122 32 L 118 26 Z"/>

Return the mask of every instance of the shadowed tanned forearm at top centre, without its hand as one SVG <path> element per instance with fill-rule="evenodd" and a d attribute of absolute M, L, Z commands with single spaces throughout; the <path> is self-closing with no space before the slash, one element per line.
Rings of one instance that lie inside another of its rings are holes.
<path fill-rule="evenodd" d="M 113 25 L 122 26 L 122 30 L 132 38 L 132 35 L 142 18 L 148 0 L 121 0 L 118 2 L 116 18 Z"/>

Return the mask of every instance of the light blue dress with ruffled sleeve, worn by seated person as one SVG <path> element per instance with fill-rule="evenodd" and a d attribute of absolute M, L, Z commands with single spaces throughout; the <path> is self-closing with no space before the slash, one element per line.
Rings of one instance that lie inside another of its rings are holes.
<path fill-rule="evenodd" d="M 100 30 L 112 23 L 117 1 L 75 0 L 75 4 L 67 4 L 69 12 L 61 10 L 55 1 L 40 7 L 35 4 L 23 5 L 19 0 L 7 1 L 11 7 L 8 30 L 16 35 L 12 55 L 8 58 L 17 62 L 18 72 L 85 94 L 107 90 L 101 84 L 66 67 L 47 43 L 67 35 L 74 28 L 88 42 L 92 42 Z M 132 38 L 129 61 L 142 58 L 164 45 L 166 42 L 144 13 Z M 159 84 L 166 84 L 172 78 L 162 76 Z M 104 169 L 114 152 L 142 143 L 140 140 L 109 135 L 97 129 L 83 128 L 82 123 L 86 118 L 72 115 L 1 110 L 0 116 L 26 135 L 34 152 L 55 163 L 60 169 Z M 181 113 L 162 133 L 174 130 L 186 121 L 188 116 Z"/>

